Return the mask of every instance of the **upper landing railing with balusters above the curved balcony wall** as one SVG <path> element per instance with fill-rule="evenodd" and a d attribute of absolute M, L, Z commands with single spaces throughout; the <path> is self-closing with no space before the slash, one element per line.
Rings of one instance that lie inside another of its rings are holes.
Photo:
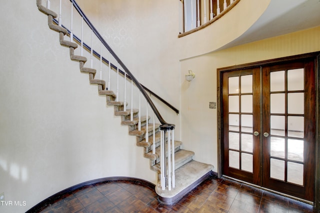
<path fill-rule="evenodd" d="M 240 0 L 180 0 L 183 22 L 179 37 L 202 29 L 229 11 Z"/>

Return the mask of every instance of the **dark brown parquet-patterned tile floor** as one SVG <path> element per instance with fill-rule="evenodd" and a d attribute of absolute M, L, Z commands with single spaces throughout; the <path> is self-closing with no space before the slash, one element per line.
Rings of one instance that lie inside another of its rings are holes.
<path fill-rule="evenodd" d="M 312 206 L 229 179 L 210 177 L 171 206 L 135 181 L 110 181 L 65 194 L 40 212 L 313 212 Z"/>

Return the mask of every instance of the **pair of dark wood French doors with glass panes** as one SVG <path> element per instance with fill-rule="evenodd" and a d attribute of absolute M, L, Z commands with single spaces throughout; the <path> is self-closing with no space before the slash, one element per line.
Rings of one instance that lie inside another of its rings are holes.
<path fill-rule="evenodd" d="M 314 76 L 314 59 L 222 72 L 222 174 L 313 201 Z"/>

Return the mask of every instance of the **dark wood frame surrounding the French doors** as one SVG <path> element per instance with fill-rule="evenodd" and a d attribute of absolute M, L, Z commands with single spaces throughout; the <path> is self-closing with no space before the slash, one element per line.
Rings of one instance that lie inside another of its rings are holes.
<path fill-rule="evenodd" d="M 222 67 L 217 69 L 217 150 L 218 150 L 218 167 L 217 174 L 219 177 L 222 176 L 222 142 L 223 142 L 223 132 L 222 132 L 222 73 L 234 70 L 240 70 L 245 68 L 262 67 L 266 65 L 287 63 L 290 61 L 298 61 L 304 59 L 314 59 L 315 65 L 315 187 L 314 187 L 314 202 L 313 206 L 316 210 L 320 210 L 320 51 L 299 54 L 294 56 L 287 56 L 263 61 L 257 61 L 252 63 L 245 63 L 241 65 Z"/>

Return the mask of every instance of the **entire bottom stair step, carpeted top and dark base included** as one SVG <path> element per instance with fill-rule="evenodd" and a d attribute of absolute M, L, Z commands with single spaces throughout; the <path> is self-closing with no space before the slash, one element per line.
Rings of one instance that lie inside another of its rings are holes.
<path fill-rule="evenodd" d="M 213 165 L 191 160 L 175 170 L 175 187 L 171 190 L 161 189 L 160 182 L 155 186 L 158 200 L 163 204 L 173 204 L 205 180 Z"/>

